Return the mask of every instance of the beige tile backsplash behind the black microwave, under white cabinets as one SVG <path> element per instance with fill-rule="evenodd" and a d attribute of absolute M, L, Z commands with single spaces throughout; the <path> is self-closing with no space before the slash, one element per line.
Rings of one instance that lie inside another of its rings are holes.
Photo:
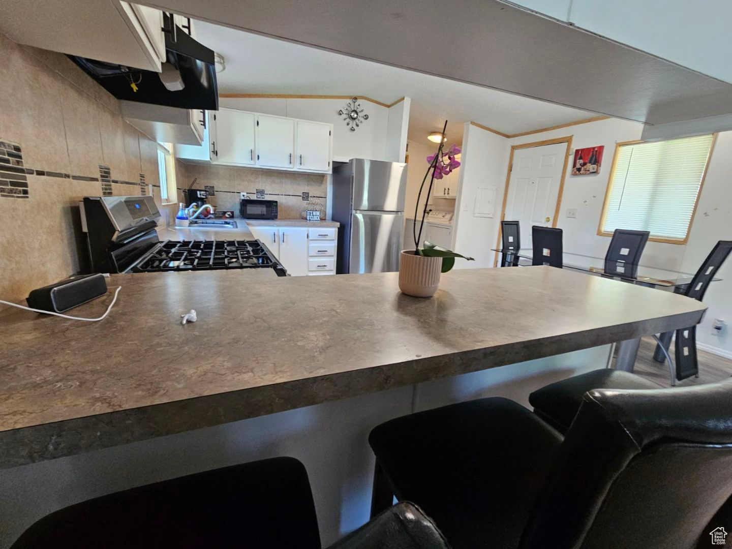
<path fill-rule="evenodd" d="M 278 201 L 280 219 L 299 219 L 300 212 L 308 201 L 302 200 L 302 193 L 310 193 L 310 200 L 318 200 L 326 206 L 328 176 L 320 173 L 293 173 L 272 170 L 255 170 L 236 166 L 209 164 L 183 164 L 178 162 L 176 184 L 178 199 L 183 201 L 182 189 L 197 178 L 193 188 L 203 189 L 213 185 L 214 196 L 209 203 L 216 209 L 231 209 L 239 215 L 239 193 L 249 193 L 256 198 L 257 189 L 264 190 L 264 198 Z"/>

